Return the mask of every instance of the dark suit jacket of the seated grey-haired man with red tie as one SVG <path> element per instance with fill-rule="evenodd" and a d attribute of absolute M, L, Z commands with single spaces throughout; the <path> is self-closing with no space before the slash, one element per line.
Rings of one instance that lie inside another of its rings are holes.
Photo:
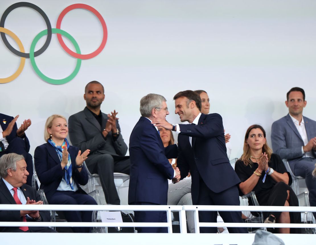
<path fill-rule="evenodd" d="M 28 185 L 22 185 L 21 190 L 25 196 L 25 198 L 29 197 L 30 199 L 40 201 L 40 196 L 35 192 L 35 189 Z M 4 184 L 3 180 L 0 179 L 0 204 L 16 204 L 13 196 L 11 195 L 8 187 Z M 50 222 L 51 214 L 49 211 L 40 211 L 41 222 Z M 0 221 L 12 221 L 12 222 L 20 222 L 20 211 L 12 210 L 12 211 L 3 211 L 0 210 Z M 27 219 L 27 222 L 32 222 L 33 219 Z M 39 221 L 34 221 L 39 222 Z M 19 229 L 19 227 L 0 227 L 0 232 L 8 232 Z M 30 230 L 36 231 L 37 227 L 29 227 Z M 41 228 L 40 228 L 41 229 Z"/>

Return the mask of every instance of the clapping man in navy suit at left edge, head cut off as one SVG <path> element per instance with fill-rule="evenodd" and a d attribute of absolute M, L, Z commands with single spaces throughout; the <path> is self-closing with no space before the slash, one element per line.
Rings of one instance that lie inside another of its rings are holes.
<path fill-rule="evenodd" d="M 31 120 L 24 120 L 18 128 L 16 125 L 18 118 L 19 115 L 13 118 L 0 113 L 0 157 L 8 153 L 23 155 L 27 163 L 27 171 L 29 172 L 27 184 L 31 186 L 33 162 L 31 154 L 28 153 L 30 150 L 30 142 L 25 135 L 25 131 L 31 126 Z"/>

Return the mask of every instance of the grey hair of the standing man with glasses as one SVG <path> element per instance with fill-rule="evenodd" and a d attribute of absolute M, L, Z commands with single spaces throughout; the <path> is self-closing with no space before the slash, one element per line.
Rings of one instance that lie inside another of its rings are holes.
<path fill-rule="evenodd" d="M 157 94 L 148 94 L 140 100 L 140 114 L 143 117 L 150 117 L 154 108 L 161 107 L 162 102 L 167 101 L 165 97 Z"/>

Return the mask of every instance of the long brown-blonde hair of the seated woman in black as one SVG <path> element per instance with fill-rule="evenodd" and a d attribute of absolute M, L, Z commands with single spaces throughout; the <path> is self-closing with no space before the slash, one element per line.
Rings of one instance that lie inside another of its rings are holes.
<path fill-rule="evenodd" d="M 252 166 L 252 161 L 250 160 L 250 147 L 247 143 L 247 139 L 249 137 L 249 133 L 252 129 L 254 128 L 259 128 L 262 132 L 263 132 L 263 136 L 265 138 L 265 131 L 263 129 L 262 126 L 258 125 L 258 124 L 254 124 L 252 126 L 250 126 L 247 131 L 246 131 L 246 135 L 245 135 L 245 141 L 244 141 L 244 153 L 241 155 L 240 159 L 241 161 L 244 162 L 245 166 L 247 166 L 248 164 L 250 166 Z M 268 161 L 270 161 L 271 159 L 271 154 L 272 154 L 272 150 L 270 149 L 269 145 L 267 144 L 267 141 L 265 141 L 264 145 L 262 146 L 262 152 L 265 152 L 268 155 Z"/>

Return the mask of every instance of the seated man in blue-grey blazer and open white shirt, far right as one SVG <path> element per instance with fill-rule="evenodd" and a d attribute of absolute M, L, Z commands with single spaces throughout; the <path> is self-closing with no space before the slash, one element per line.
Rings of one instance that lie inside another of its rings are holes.
<path fill-rule="evenodd" d="M 310 205 L 316 206 L 316 178 L 312 176 L 316 163 L 316 122 L 303 117 L 307 104 L 303 89 L 292 88 L 286 96 L 289 114 L 272 124 L 272 148 L 288 160 L 295 176 L 305 178 Z"/>

